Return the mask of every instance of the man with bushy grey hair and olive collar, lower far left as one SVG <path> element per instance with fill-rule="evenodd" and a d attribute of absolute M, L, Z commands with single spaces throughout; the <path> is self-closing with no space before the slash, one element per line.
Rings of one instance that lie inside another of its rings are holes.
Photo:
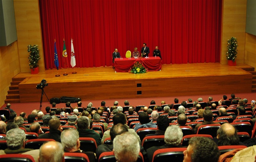
<path fill-rule="evenodd" d="M 6 133 L 5 139 L 8 147 L 7 149 L 4 150 L 5 154 L 16 154 L 33 150 L 24 148 L 26 135 L 24 130 L 21 130 L 20 128 L 14 128 L 9 130 Z"/>

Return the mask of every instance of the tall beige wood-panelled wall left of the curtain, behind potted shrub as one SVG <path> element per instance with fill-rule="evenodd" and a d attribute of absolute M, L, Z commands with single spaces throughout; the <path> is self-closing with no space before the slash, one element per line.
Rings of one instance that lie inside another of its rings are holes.
<path fill-rule="evenodd" d="M 41 34 L 40 12 L 38 0 L 13 0 L 18 51 L 21 72 L 30 72 L 28 62 L 28 45 L 38 45 L 40 50 L 39 71 L 45 71 L 44 52 Z"/>

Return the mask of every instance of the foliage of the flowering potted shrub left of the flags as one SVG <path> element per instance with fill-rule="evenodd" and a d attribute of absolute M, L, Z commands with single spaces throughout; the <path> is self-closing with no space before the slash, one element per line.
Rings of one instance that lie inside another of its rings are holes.
<path fill-rule="evenodd" d="M 30 69 L 38 67 L 38 61 L 41 59 L 39 56 L 39 49 L 37 45 L 28 45 L 28 61 Z"/>

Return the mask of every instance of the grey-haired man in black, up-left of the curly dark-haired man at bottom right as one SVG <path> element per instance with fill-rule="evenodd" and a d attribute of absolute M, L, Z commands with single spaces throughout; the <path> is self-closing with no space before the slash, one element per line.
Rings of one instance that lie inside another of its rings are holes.
<path fill-rule="evenodd" d="M 153 146 L 147 149 L 148 161 L 152 161 L 154 152 L 158 149 L 182 147 L 183 133 L 179 126 L 171 125 L 165 130 L 163 146 Z"/>

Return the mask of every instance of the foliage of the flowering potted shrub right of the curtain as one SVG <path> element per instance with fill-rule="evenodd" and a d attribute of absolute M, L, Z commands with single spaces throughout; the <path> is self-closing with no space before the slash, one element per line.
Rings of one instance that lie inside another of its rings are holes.
<path fill-rule="evenodd" d="M 226 53 L 226 57 L 228 60 L 232 60 L 235 62 L 236 60 L 236 54 L 237 54 L 237 40 L 235 37 L 232 37 L 231 39 L 228 39 L 228 52 Z"/>

